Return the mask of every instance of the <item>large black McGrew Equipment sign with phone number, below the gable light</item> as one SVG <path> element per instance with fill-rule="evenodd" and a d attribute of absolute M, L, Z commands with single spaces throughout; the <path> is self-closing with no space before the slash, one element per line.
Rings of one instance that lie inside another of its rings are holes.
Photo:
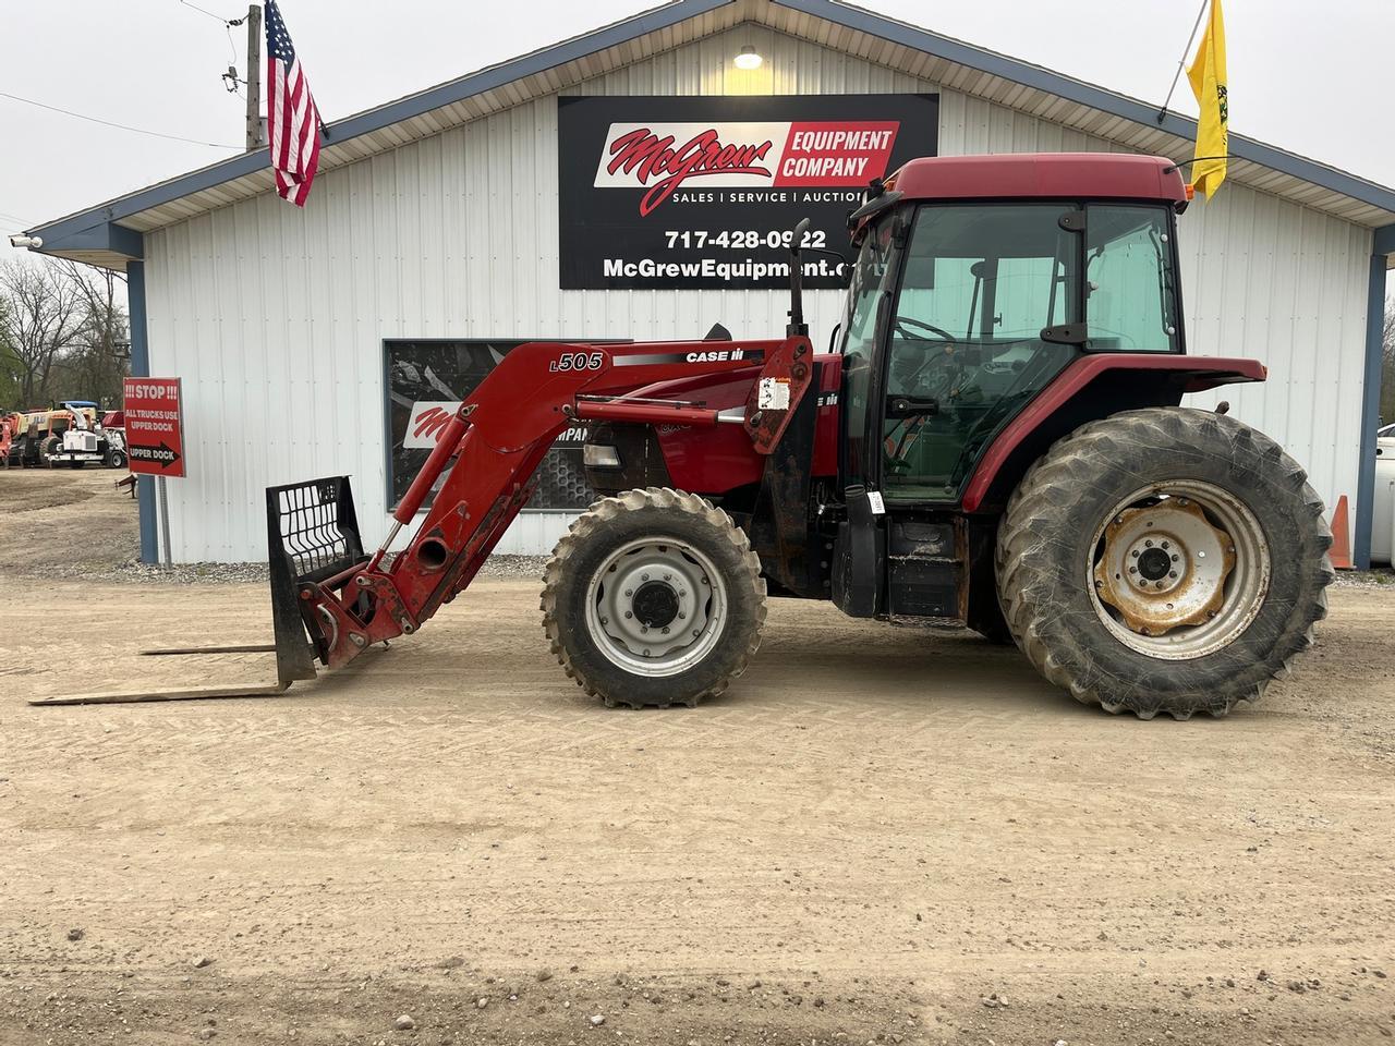
<path fill-rule="evenodd" d="M 937 95 L 587 96 L 558 102 L 559 285 L 788 287 L 790 237 L 848 258 L 872 179 L 933 156 Z M 804 255 L 806 287 L 844 287 Z"/>

